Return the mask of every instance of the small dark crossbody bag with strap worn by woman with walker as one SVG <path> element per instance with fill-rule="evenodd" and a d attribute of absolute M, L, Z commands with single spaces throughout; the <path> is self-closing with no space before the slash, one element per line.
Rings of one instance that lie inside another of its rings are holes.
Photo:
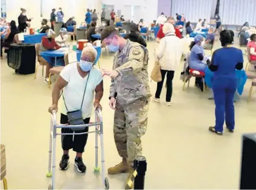
<path fill-rule="evenodd" d="M 88 84 L 89 76 L 90 76 L 90 73 L 88 74 L 88 78 L 86 80 L 85 91 L 86 91 L 86 87 L 87 87 L 87 84 Z M 83 91 L 83 100 L 85 99 L 85 91 Z M 62 93 L 62 96 L 63 96 L 64 104 L 65 104 L 65 107 L 66 107 L 66 111 L 68 111 L 63 93 Z M 85 122 L 83 122 L 83 114 L 82 114 L 83 100 L 82 100 L 80 109 L 75 110 L 75 111 L 68 111 L 66 113 L 66 115 L 68 116 L 68 123 L 70 125 L 85 124 Z M 71 127 L 71 129 L 72 130 L 84 130 L 85 128 L 76 129 L 75 127 Z"/>

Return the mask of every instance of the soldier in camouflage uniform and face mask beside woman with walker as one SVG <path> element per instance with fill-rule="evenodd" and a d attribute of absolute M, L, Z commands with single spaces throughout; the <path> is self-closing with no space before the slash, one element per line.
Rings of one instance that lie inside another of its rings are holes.
<path fill-rule="evenodd" d="M 151 97 L 147 73 L 149 53 L 141 44 L 120 37 L 112 26 L 101 32 L 101 40 L 109 51 L 116 52 L 113 70 L 103 70 L 103 73 L 112 78 L 109 105 L 115 109 L 114 138 L 123 158 L 120 164 L 110 167 L 108 173 L 130 173 L 130 178 L 135 156 L 142 155 L 141 136 L 147 129 Z"/>

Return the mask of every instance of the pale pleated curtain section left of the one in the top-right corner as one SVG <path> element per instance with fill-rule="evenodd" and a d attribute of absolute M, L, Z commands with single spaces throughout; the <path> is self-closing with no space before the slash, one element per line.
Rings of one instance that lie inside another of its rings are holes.
<path fill-rule="evenodd" d="M 173 0 L 171 15 L 184 14 L 187 21 L 198 22 L 199 19 L 210 21 L 215 0 Z"/>

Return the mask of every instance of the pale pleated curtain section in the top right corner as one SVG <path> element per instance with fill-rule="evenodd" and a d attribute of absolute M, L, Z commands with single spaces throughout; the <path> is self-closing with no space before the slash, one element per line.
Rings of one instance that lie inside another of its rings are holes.
<path fill-rule="evenodd" d="M 224 25 L 256 26 L 256 0 L 220 0 L 220 18 Z"/>

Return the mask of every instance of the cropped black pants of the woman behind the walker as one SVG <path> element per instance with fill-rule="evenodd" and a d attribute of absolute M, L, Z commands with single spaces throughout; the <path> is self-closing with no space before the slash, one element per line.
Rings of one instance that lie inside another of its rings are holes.
<path fill-rule="evenodd" d="M 85 124 L 88 124 L 90 122 L 90 118 L 85 118 L 83 120 Z M 67 124 L 68 123 L 68 116 L 61 114 L 60 115 L 60 123 L 61 124 Z M 88 132 L 88 127 L 86 127 L 84 130 L 72 130 L 70 128 L 62 128 L 62 133 L 82 133 L 82 132 Z M 73 149 L 74 152 L 83 153 L 85 152 L 85 145 L 87 142 L 88 134 L 84 135 L 62 135 L 62 149 L 63 150 L 69 150 Z"/>

